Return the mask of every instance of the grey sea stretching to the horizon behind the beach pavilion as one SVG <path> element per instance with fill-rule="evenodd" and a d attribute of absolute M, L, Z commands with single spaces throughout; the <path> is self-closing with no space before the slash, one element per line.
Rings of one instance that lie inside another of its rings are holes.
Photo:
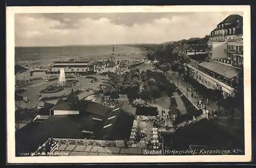
<path fill-rule="evenodd" d="M 37 46 L 15 47 L 15 63 L 20 65 L 50 65 L 54 61 L 76 59 L 79 61 L 99 61 L 110 57 L 113 45 L 78 46 Z M 115 45 L 117 60 L 138 61 L 143 58 L 142 51 L 135 46 Z"/>

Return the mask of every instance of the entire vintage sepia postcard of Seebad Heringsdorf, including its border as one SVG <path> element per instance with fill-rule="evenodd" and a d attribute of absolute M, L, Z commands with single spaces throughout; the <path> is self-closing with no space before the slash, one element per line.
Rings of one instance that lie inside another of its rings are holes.
<path fill-rule="evenodd" d="M 251 161 L 250 7 L 7 7 L 7 162 Z"/>

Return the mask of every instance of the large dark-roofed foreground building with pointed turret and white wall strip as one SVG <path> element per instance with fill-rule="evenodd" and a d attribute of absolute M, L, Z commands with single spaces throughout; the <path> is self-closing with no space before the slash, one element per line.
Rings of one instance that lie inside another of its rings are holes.
<path fill-rule="evenodd" d="M 16 131 L 16 154 L 34 152 L 49 137 L 71 139 L 120 139 L 130 136 L 134 116 L 91 101 L 78 100 L 72 91 L 59 100 L 43 122 L 31 122 Z"/>

